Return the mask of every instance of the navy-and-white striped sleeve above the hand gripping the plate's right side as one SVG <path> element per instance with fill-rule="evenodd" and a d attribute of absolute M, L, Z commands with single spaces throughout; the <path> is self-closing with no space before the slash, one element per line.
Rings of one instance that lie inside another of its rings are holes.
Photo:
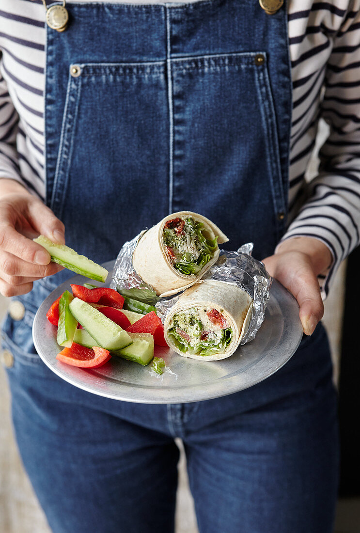
<path fill-rule="evenodd" d="M 318 175 L 307 201 L 283 240 L 314 237 L 329 247 L 333 262 L 319 277 L 326 297 L 341 261 L 360 242 L 360 7 L 344 15 L 326 64 L 321 116 L 330 134 L 320 152 Z"/>

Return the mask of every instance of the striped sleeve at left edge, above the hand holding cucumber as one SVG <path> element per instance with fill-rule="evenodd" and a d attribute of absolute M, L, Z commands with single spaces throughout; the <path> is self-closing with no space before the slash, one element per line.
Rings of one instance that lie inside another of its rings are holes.
<path fill-rule="evenodd" d="M 16 148 L 18 123 L 19 115 L 10 99 L 6 82 L 0 74 L 0 178 L 6 177 L 22 182 Z"/>

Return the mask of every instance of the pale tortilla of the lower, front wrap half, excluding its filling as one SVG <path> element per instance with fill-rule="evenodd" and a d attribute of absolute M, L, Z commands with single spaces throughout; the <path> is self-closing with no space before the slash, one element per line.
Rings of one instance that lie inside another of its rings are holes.
<path fill-rule="evenodd" d="M 173 306 L 164 322 L 164 335 L 170 348 L 182 357 L 191 357 L 200 361 L 218 361 L 230 357 L 238 347 L 247 328 L 249 328 L 252 298 L 245 290 L 226 283 L 225 281 L 205 280 L 187 289 Z M 186 309 L 202 307 L 216 309 L 227 320 L 233 330 L 230 344 L 222 353 L 214 353 L 212 356 L 201 356 L 181 352 L 172 342 L 167 331 L 172 327 L 171 319 L 174 314 L 181 313 Z"/>

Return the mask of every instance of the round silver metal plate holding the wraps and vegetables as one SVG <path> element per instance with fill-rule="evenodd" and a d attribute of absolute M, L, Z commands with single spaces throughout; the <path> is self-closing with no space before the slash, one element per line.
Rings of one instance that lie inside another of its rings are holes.
<path fill-rule="evenodd" d="M 103 266 L 109 271 L 114 261 Z M 111 276 L 108 279 L 110 282 Z M 184 403 L 218 398 L 259 383 L 281 368 L 297 350 L 302 327 L 299 306 L 289 292 L 274 280 L 265 320 L 255 339 L 221 361 L 184 358 L 169 348 L 155 346 L 155 356 L 163 357 L 167 371 L 157 376 L 149 367 L 113 357 L 97 369 L 65 365 L 55 357 L 59 352 L 56 328 L 46 319 L 52 302 L 70 283 L 89 281 L 74 276 L 57 287 L 39 307 L 33 325 L 35 348 L 44 363 L 65 381 L 88 392 L 138 403 Z M 108 285 L 108 284 L 106 284 Z"/>

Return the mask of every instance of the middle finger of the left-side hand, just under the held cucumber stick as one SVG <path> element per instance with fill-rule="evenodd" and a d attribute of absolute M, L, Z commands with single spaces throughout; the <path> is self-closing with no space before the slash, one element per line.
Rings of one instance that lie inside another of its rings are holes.
<path fill-rule="evenodd" d="M 36 265 L 34 263 L 28 263 L 23 261 L 20 257 L 16 257 L 9 252 L 3 252 L 0 250 L 0 276 L 10 283 L 7 277 L 14 276 L 27 276 L 32 278 L 44 278 L 46 276 L 52 276 L 63 269 L 57 263 L 49 263 L 47 265 Z"/>

